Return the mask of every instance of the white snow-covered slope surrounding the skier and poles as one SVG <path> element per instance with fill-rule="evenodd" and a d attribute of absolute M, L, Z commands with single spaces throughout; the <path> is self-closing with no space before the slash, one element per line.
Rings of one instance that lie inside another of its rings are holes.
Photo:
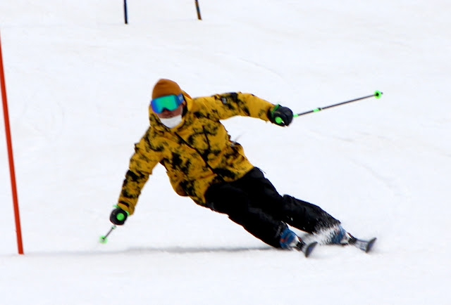
<path fill-rule="evenodd" d="M 450 304 L 449 1 L 0 2 L 25 255 L 0 124 L 0 304 Z M 295 112 L 224 121 L 280 193 L 320 205 L 371 254 L 268 248 L 173 193 L 156 167 L 111 227 L 154 83 L 242 91 Z"/>

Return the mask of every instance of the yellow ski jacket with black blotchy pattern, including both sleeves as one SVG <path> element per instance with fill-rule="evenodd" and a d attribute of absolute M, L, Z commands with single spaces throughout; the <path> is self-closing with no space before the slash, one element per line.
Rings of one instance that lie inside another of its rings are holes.
<path fill-rule="evenodd" d="M 275 105 L 240 92 L 202 98 L 186 94 L 185 100 L 183 122 L 173 129 L 161 124 L 149 107 L 150 126 L 135 144 L 118 200 L 125 212 L 135 212 L 141 190 L 158 163 L 166 168 L 175 192 L 198 205 L 206 204 L 204 193 L 209 186 L 240 179 L 253 168 L 220 120 L 240 115 L 269 121 L 268 112 Z"/>

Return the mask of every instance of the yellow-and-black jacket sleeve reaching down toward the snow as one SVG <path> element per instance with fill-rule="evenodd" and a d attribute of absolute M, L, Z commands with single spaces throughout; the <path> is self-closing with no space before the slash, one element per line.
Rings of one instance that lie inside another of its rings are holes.
<path fill-rule="evenodd" d="M 139 143 L 135 144 L 135 153 L 130 159 L 130 166 L 125 174 L 118 200 L 118 207 L 121 207 L 130 215 L 135 212 L 141 190 L 152 174 L 152 170 L 159 163 L 159 158 L 159 153 L 152 150 L 147 136 L 144 136 Z"/>

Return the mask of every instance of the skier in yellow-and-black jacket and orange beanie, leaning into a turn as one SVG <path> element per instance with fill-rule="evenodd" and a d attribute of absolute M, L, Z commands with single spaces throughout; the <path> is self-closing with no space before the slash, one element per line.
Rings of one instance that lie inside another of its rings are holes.
<path fill-rule="evenodd" d="M 289 226 L 323 236 L 324 244 L 352 242 L 340 221 L 316 205 L 280 195 L 247 160 L 242 146 L 230 141 L 220 122 L 236 115 L 279 126 L 290 125 L 293 118 L 289 108 L 249 93 L 191 98 L 177 83 L 159 79 L 152 91 L 149 129 L 135 144 L 111 222 L 121 226 L 135 212 L 144 184 L 160 163 L 178 195 L 227 214 L 272 247 L 298 249 L 308 256 L 316 242 L 307 245 Z"/>

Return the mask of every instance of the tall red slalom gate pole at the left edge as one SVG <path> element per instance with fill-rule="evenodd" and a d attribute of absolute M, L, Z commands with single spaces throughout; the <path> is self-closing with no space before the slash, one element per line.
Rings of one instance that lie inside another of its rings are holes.
<path fill-rule="evenodd" d="M 13 191 L 14 216 L 16 219 L 17 246 L 19 254 L 23 254 L 22 230 L 20 229 L 19 200 L 17 195 L 16 171 L 14 170 L 13 142 L 11 140 L 11 129 L 9 126 L 8 100 L 6 99 L 6 82 L 5 82 L 3 56 L 1 52 L 1 39 L 0 39 L 0 86 L 1 86 L 1 100 L 3 102 L 3 115 L 5 120 L 6 146 L 8 147 L 9 172 L 11 175 L 11 188 Z"/>

